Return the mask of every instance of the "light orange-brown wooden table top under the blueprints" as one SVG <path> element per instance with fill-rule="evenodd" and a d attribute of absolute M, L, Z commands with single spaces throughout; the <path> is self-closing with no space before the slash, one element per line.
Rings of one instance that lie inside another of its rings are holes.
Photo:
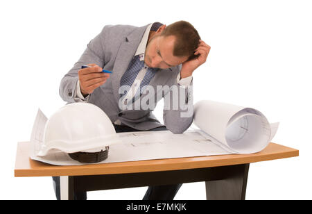
<path fill-rule="evenodd" d="M 30 142 L 18 142 L 15 161 L 15 176 L 78 176 L 96 174 L 127 174 L 137 172 L 159 172 L 168 170 L 189 170 L 203 167 L 218 167 L 270 161 L 299 156 L 299 150 L 273 142 L 255 154 L 229 154 L 218 156 L 198 156 L 168 158 L 122 163 L 102 163 L 79 166 L 57 166 L 33 161 L 29 157 Z"/>

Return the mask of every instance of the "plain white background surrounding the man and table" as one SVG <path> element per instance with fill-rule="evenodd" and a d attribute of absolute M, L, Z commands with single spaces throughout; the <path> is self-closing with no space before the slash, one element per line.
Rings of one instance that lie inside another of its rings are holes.
<path fill-rule="evenodd" d="M 211 46 L 193 73 L 194 103 L 256 108 L 280 122 L 272 142 L 300 150 L 252 163 L 246 199 L 312 199 L 311 1 L 11 0 L 0 8 L 0 199 L 55 199 L 51 177 L 14 177 L 17 142 L 29 140 L 37 108 L 49 117 L 65 104 L 60 80 L 103 26 L 180 20 Z M 88 199 L 141 199 L 146 190 L 88 192 Z M 184 183 L 175 199 L 205 199 L 205 183 Z"/>

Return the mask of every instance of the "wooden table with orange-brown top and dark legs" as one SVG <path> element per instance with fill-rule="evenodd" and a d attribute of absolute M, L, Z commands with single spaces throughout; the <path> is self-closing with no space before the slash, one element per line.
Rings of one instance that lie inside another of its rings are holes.
<path fill-rule="evenodd" d="M 205 181 L 207 199 L 245 199 L 250 163 L 299 156 L 297 149 L 270 142 L 256 154 L 169 158 L 123 163 L 56 166 L 33 161 L 30 142 L 19 142 L 15 176 L 60 176 L 61 199 L 74 190 L 107 190 Z"/>

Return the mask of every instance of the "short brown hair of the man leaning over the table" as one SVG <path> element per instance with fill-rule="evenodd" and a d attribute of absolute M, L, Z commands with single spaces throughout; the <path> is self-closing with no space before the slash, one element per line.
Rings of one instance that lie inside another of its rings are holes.
<path fill-rule="evenodd" d="M 197 58 L 199 55 L 194 55 L 195 50 L 200 43 L 200 35 L 189 22 L 179 21 L 166 26 L 162 34 L 164 36 L 174 35 L 175 47 L 173 56 L 189 56 L 188 60 Z"/>

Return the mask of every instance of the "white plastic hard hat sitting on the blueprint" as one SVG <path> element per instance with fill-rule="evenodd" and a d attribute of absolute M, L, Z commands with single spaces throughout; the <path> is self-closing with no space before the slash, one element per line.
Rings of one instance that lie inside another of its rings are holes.
<path fill-rule="evenodd" d="M 101 108 L 73 103 L 60 108 L 46 122 L 43 146 L 37 156 L 45 156 L 51 149 L 68 154 L 95 153 L 105 151 L 116 142 L 119 142 L 118 135 Z"/>

